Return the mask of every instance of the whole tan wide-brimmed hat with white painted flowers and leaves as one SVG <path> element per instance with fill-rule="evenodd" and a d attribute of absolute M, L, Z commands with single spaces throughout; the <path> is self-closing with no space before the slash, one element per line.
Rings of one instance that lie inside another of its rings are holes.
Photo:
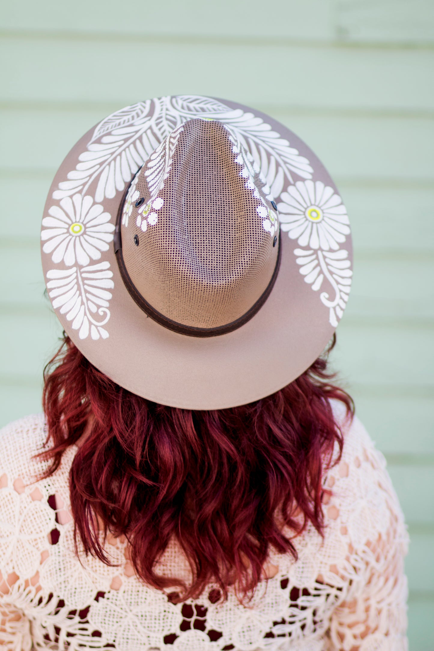
<path fill-rule="evenodd" d="M 85 133 L 41 238 L 77 348 L 173 407 L 234 407 L 295 380 L 351 286 L 346 208 L 318 158 L 267 115 L 204 96 L 139 102 Z"/>

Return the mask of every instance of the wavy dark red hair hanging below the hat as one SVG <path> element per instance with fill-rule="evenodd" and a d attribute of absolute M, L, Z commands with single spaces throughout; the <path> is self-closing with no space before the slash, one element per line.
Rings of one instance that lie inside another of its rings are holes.
<path fill-rule="evenodd" d="M 224 596 L 234 585 L 249 598 L 270 547 L 297 557 L 292 541 L 308 522 L 323 533 L 323 474 L 343 445 L 329 399 L 354 412 L 333 377 L 326 354 L 262 400 L 191 411 L 123 389 L 65 337 L 44 372 L 51 447 L 42 456 L 51 462 L 48 477 L 92 415 L 70 472 L 76 543 L 81 538 L 87 553 L 109 564 L 103 523 L 105 534 L 126 536 L 145 583 L 178 589 L 174 600 L 197 598 L 210 582 Z M 190 585 L 156 574 L 172 538 L 191 566 Z"/>

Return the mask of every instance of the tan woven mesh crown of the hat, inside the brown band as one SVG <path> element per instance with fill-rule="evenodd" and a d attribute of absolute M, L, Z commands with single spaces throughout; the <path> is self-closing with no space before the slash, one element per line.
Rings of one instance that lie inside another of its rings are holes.
<path fill-rule="evenodd" d="M 138 293 L 163 318 L 197 329 L 228 326 L 252 311 L 278 262 L 278 218 L 264 186 L 222 122 L 197 118 L 170 133 L 122 208 L 133 298 Z"/>

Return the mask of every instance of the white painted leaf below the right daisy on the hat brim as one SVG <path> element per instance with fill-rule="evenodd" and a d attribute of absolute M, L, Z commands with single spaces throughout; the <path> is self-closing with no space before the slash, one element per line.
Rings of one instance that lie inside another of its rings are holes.
<path fill-rule="evenodd" d="M 300 273 L 305 276 L 305 283 L 312 284 L 314 292 L 318 292 L 327 278 L 331 284 L 335 296 L 329 298 L 327 292 L 321 292 L 319 298 L 323 305 L 329 308 L 329 322 L 333 327 L 338 326 L 338 318 L 344 315 L 349 290 L 351 289 L 351 262 L 348 260 L 348 251 L 314 251 L 312 249 L 294 250 L 297 259 L 295 262 L 300 265 Z"/>

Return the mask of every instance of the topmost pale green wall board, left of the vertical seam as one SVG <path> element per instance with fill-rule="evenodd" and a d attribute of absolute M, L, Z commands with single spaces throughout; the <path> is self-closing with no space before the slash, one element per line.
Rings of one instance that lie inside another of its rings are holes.
<path fill-rule="evenodd" d="M 223 36 L 243 40 L 283 38 L 308 40 L 316 43 L 331 40 L 334 36 L 334 6 L 331 0 L 165 0 L 164 3 L 129 0 L 128 11 L 122 11 L 116 0 L 100 3 L 75 0 L 59 3 L 44 0 L 40 4 L 10 3 L 4 7 L 1 25 L 5 29 L 31 31 L 76 31 L 78 33 L 104 33 L 135 35 L 191 37 Z"/>

